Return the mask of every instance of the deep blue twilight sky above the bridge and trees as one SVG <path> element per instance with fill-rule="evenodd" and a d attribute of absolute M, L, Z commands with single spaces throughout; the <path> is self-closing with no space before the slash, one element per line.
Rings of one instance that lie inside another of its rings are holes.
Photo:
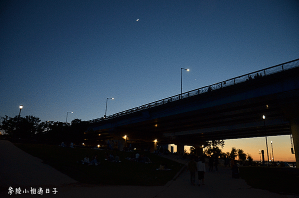
<path fill-rule="evenodd" d="M 4 0 L 0 117 L 90 120 L 299 57 L 297 0 Z M 137 21 L 138 19 L 138 21 Z"/>

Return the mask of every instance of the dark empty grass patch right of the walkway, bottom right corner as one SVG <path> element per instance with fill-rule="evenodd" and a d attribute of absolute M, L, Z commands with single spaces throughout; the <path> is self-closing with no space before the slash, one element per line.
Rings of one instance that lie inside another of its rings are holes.
<path fill-rule="evenodd" d="M 299 195 L 299 169 L 240 167 L 240 177 L 256 189 Z"/>

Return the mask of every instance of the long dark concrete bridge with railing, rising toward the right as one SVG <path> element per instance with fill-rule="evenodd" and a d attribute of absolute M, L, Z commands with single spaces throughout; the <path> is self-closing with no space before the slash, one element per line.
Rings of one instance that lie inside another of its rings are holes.
<path fill-rule="evenodd" d="M 126 135 L 129 140 L 175 144 L 183 151 L 183 145 L 201 147 L 208 140 L 292 134 L 298 167 L 298 112 L 296 59 L 90 120 L 89 138 Z"/>

